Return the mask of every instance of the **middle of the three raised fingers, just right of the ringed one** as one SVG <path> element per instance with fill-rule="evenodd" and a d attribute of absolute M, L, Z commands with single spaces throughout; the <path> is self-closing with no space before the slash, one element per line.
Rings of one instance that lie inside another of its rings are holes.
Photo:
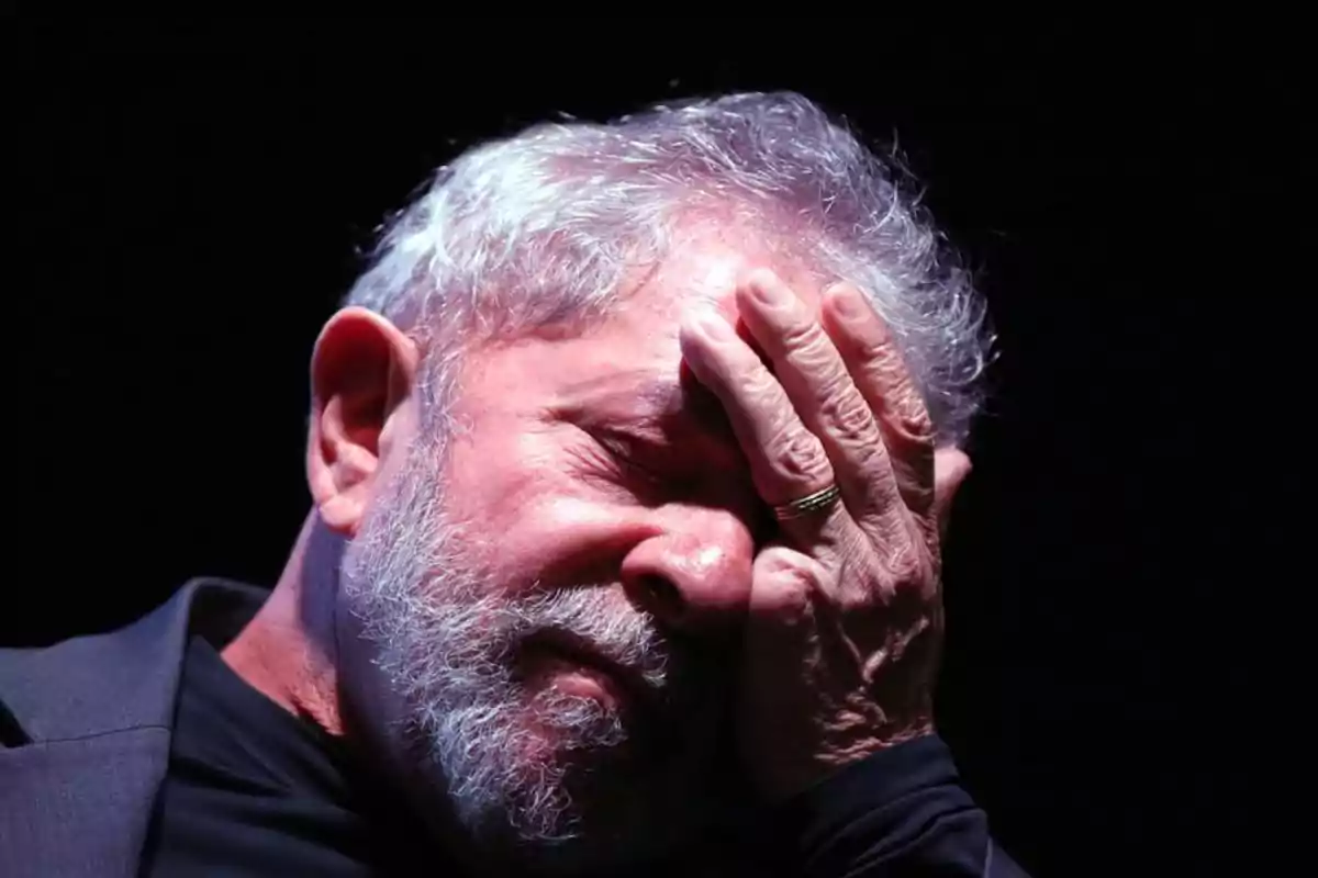
<path fill-rule="evenodd" d="M 747 278 L 737 301 L 796 412 L 818 437 L 851 513 L 904 529 L 904 504 L 878 420 L 813 309 L 767 270 Z"/>

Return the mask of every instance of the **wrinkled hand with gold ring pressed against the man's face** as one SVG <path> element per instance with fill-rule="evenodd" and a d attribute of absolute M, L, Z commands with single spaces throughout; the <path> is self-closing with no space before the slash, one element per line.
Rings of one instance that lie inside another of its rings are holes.
<path fill-rule="evenodd" d="M 970 461 L 936 449 L 892 337 L 854 287 L 828 290 L 816 319 L 760 270 L 737 305 L 772 371 L 717 315 L 684 326 L 681 346 L 759 496 L 776 507 L 841 490 L 830 508 L 783 521 L 754 563 L 738 741 L 751 781 L 780 799 L 932 732 L 938 540 Z"/>

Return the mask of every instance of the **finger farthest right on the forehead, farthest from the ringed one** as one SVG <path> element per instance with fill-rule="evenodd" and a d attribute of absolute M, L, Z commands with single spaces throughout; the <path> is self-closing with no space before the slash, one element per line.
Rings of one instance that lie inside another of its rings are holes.
<path fill-rule="evenodd" d="M 849 283 L 824 294 L 824 328 L 870 404 L 907 507 L 929 520 L 934 502 L 934 429 L 896 340 L 869 300 Z"/>

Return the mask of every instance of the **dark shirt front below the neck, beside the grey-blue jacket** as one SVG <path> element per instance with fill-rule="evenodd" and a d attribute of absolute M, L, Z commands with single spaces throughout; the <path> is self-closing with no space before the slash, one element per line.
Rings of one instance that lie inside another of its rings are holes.
<path fill-rule="evenodd" d="M 339 741 L 194 636 L 142 874 L 356 878 L 399 874 L 402 864 L 457 874 L 435 852 L 413 850 L 409 821 L 384 819 L 357 775 Z"/>

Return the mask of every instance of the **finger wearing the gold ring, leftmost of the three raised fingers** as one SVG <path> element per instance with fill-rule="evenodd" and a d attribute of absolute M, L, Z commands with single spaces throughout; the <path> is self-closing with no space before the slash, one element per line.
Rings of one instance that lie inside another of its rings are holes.
<path fill-rule="evenodd" d="M 722 403 L 760 499 L 782 505 L 834 483 L 818 438 L 796 416 L 791 400 L 759 355 L 716 313 L 688 321 L 679 336 L 696 378 Z M 841 504 L 783 521 L 797 545 L 840 540 Z"/>

